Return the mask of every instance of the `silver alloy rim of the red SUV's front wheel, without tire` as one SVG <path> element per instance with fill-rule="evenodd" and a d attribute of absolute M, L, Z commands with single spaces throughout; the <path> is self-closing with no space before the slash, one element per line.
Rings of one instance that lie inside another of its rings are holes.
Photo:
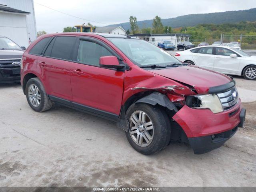
<path fill-rule="evenodd" d="M 148 114 L 141 110 L 133 112 L 130 116 L 129 132 L 138 146 L 149 146 L 154 137 L 154 126 Z"/>

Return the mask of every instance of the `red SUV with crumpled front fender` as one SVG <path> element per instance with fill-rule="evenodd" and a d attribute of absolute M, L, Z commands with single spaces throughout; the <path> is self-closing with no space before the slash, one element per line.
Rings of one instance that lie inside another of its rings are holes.
<path fill-rule="evenodd" d="M 30 107 L 53 103 L 117 122 L 142 154 L 171 141 L 195 154 L 220 147 L 242 127 L 245 109 L 232 78 L 181 63 L 130 36 L 40 36 L 22 56 L 21 84 Z"/>

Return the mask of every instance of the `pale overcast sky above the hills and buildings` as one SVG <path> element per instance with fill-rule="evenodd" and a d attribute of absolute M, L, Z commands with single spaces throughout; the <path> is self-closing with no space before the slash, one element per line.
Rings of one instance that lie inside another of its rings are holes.
<path fill-rule="evenodd" d="M 34 7 L 37 31 L 53 33 L 62 32 L 66 26 L 88 22 L 96 26 L 128 22 L 131 15 L 141 21 L 156 15 L 173 18 L 187 14 L 245 10 L 255 8 L 256 0 L 34 0 Z"/>

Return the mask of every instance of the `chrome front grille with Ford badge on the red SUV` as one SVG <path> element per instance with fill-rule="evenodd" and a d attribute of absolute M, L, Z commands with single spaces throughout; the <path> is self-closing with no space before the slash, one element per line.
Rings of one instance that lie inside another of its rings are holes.
<path fill-rule="evenodd" d="M 217 95 L 220 98 L 224 110 L 228 110 L 238 103 L 238 92 L 235 87 L 227 92 L 218 93 Z"/>

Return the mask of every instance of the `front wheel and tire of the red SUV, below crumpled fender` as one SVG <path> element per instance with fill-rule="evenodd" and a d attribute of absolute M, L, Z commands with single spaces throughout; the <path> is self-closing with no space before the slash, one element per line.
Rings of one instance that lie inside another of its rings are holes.
<path fill-rule="evenodd" d="M 170 120 L 159 106 L 132 104 L 127 112 L 129 131 L 126 137 L 130 145 L 144 155 L 162 150 L 170 141 Z"/>

